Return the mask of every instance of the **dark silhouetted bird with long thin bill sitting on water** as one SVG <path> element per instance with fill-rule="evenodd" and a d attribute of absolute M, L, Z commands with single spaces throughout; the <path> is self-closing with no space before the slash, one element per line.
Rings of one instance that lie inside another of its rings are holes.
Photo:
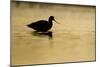
<path fill-rule="evenodd" d="M 38 20 L 36 22 L 28 24 L 27 26 L 29 28 L 34 29 L 37 32 L 47 32 L 48 30 L 52 28 L 53 21 L 57 22 L 54 16 L 49 16 L 48 20 Z"/>

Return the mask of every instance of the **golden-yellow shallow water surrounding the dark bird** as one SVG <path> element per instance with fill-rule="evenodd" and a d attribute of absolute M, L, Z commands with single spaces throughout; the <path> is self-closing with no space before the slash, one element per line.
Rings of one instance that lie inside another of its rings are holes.
<path fill-rule="evenodd" d="M 49 34 L 26 25 L 48 20 Z M 21 3 L 12 4 L 12 65 L 62 63 L 95 60 L 95 7 Z"/>

